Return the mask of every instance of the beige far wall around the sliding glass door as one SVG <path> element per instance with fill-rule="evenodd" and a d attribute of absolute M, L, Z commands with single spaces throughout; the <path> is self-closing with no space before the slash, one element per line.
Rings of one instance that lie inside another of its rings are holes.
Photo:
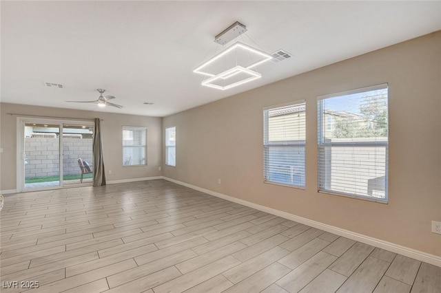
<path fill-rule="evenodd" d="M 0 190 L 16 188 L 17 178 L 17 116 L 8 113 L 19 113 L 21 116 L 57 116 L 64 118 L 93 119 L 101 118 L 103 133 L 103 153 L 106 180 L 125 180 L 162 175 L 158 166 L 162 163 L 162 118 L 133 116 L 117 113 L 80 111 L 50 107 L 34 107 L 1 103 L 1 181 Z M 147 166 L 123 167 L 123 125 L 147 127 Z M 108 174 L 112 170 L 112 174 Z"/>

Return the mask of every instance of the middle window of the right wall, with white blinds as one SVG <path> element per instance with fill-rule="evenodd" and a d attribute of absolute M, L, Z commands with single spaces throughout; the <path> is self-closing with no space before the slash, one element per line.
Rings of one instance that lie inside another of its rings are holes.
<path fill-rule="evenodd" d="M 305 102 L 263 111 L 265 182 L 305 187 Z"/>

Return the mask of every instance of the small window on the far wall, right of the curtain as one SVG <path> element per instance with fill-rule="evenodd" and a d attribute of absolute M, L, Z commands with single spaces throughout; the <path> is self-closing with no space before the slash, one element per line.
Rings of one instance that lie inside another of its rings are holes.
<path fill-rule="evenodd" d="M 146 165 L 147 128 L 123 126 L 123 166 Z"/>

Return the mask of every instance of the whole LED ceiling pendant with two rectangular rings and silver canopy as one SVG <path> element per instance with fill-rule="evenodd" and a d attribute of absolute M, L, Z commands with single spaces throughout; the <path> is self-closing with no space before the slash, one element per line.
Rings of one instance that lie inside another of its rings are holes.
<path fill-rule="evenodd" d="M 246 31 L 246 26 L 236 21 L 216 35 L 214 42 L 225 45 Z M 255 69 L 272 58 L 263 50 L 237 41 L 203 62 L 193 72 L 207 77 L 201 83 L 203 86 L 221 90 L 231 89 L 262 77 L 262 74 L 252 68 Z"/>

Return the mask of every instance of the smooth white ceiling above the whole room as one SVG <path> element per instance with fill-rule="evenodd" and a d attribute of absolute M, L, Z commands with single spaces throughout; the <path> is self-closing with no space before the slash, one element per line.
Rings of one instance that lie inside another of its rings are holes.
<path fill-rule="evenodd" d="M 1 102 L 167 116 L 441 30 L 440 16 L 441 1 L 1 1 Z M 234 21 L 294 58 L 234 89 L 203 87 L 192 70 Z M 124 108 L 64 102 L 97 88 Z"/>

